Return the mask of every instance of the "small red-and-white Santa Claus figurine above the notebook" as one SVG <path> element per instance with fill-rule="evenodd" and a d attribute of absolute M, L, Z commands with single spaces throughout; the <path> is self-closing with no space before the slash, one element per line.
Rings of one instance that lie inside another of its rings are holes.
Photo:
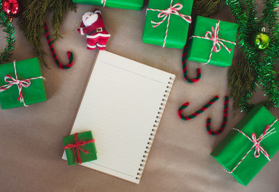
<path fill-rule="evenodd" d="M 107 40 L 110 38 L 110 34 L 105 30 L 105 24 L 98 9 L 94 10 L 94 13 L 84 13 L 82 24 L 80 24 L 80 29 L 77 29 L 77 32 L 82 35 L 86 34 L 87 49 L 90 50 L 98 48 L 104 51 Z"/>

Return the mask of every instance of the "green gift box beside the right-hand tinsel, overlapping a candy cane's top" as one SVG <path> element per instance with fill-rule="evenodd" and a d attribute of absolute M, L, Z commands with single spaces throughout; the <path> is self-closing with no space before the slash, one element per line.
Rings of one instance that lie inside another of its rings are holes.
<path fill-rule="evenodd" d="M 197 16 L 193 33 L 194 37 L 192 37 L 189 42 L 188 61 L 217 65 L 220 67 L 232 65 L 237 24 L 220 21 L 220 25 L 217 29 L 218 34 L 215 35 L 214 31 L 217 31 L 216 24 L 218 24 L 217 19 Z M 208 34 L 206 35 L 206 33 Z M 218 38 L 215 49 L 217 52 L 213 49 L 213 39 L 215 37 Z M 230 53 L 226 47 L 230 49 Z M 220 51 L 218 51 L 218 49 L 220 49 Z"/>

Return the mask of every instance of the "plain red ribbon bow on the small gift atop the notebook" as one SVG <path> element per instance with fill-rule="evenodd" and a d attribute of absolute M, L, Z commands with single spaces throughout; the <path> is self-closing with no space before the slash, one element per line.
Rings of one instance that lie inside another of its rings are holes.
<path fill-rule="evenodd" d="M 73 150 L 73 154 L 75 156 L 75 163 L 77 163 L 77 159 L 78 159 L 79 164 L 81 164 L 82 163 L 82 159 L 80 157 L 80 150 L 82 152 L 84 152 L 85 154 L 88 154 L 89 152 L 87 152 L 86 150 L 82 150 L 82 148 L 80 148 L 80 146 L 83 146 L 83 145 L 88 144 L 88 143 L 94 143 L 95 140 L 91 139 L 89 141 L 77 141 L 77 135 L 78 135 L 78 133 L 75 133 L 75 143 L 69 144 L 67 146 L 63 146 L 63 148 L 65 150 L 72 149 Z M 77 149 L 77 153 L 75 153 L 75 148 Z"/>

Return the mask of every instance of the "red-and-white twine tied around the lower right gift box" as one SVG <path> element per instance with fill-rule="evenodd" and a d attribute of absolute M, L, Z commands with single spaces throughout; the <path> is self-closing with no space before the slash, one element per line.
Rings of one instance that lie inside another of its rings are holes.
<path fill-rule="evenodd" d="M 266 150 L 264 150 L 264 148 L 260 145 L 260 143 L 267 137 L 271 136 L 272 134 L 276 133 L 275 128 L 270 129 L 276 122 L 278 121 L 278 119 L 276 119 L 271 125 L 267 125 L 266 129 L 264 129 L 264 133 L 259 136 L 259 138 L 256 137 L 255 133 L 252 133 L 252 137 L 250 138 L 249 136 L 247 136 L 246 134 L 243 133 L 243 131 L 239 130 L 239 129 L 235 129 L 236 131 L 239 131 L 239 133 L 243 134 L 243 136 L 246 136 L 246 138 L 248 138 L 249 141 L 251 141 L 254 145 L 252 145 L 252 147 L 250 148 L 250 150 L 246 153 L 246 155 L 244 155 L 244 157 L 239 161 L 239 163 L 237 163 L 237 165 L 231 170 L 226 170 L 225 171 L 227 173 L 233 173 L 234 170 L 236 170 L 236 168 L 242 163 L 242 161 L 248 156 L 248 154 L 252 151 L 252 149 L 255 147 L 255 152 L 254 152 L 254 157 L 255 158 L 259 158 L 259 156 L 262 154 L 264 154 L 264 156 L 266 157 L 267 160 L 271 160 L 269 158 L 269 154 L 266 152 Z"/>

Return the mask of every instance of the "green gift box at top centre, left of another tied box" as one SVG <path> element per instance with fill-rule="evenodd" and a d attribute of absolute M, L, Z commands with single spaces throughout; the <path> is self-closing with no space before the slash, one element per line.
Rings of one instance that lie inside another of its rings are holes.
<path fill-rule="evenodd" d="M 149 0 L 143 42 L 183 49 L 187 41 L 192 7 L 193 0 Z M 172 10 L 172 13 L 167 13 L 167 10 Z"/>

